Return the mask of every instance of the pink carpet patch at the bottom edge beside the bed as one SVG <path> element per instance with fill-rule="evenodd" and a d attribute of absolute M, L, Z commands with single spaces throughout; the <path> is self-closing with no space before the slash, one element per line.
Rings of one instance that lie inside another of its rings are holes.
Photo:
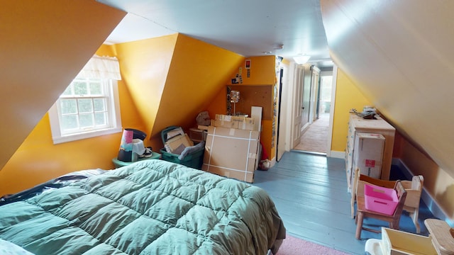
<path fill-rule="evenodd" d="M 286 235 L 276 255 L 345 255 L 342 251 Z M 348 254 L 346 254 L 348 255 Z"/>

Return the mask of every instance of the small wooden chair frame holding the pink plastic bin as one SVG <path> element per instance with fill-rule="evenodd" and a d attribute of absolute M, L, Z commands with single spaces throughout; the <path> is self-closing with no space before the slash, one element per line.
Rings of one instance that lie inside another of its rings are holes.
<path fill-rule="evenodd" d="M 399 221 L 400 221 L 400 216 L 402 215 L 402 210 L 404 210 L 406 191 L 405 191 L 404 186 L 402 186 L 401 181 L 396 181 L 394 190 L 397 192 L 397 197 L 399 198 L 399 203 L 397 204 L 396 210 L 394 210 L 394 213 L 392 215 L 386 215 L 386 214 L 383 214 L 380 212 L 367 210 L 365 208 L 365 198 L 363 196 L 358 196 L 358 198 L 356 200 L 358 210 L 357 210 L 357 215 L 355 218 L 355 223 L 356 223 L 355 237 L 356 237 L 356 239 L 361 239 L 361 230 L 362 229 L 380 233 L 380 230 L 362 227 L 362 220 L 364 220 L 365 217 L 373 217 L 377 220 L 386 221 L 389 223 L 389 228 L 399 230 Z"/>

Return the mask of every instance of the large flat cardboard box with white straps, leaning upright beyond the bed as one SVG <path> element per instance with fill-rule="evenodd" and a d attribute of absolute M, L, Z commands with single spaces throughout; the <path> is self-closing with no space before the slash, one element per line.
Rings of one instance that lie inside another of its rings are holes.
<path fill-rule="evenodd" d="M 208 127 L 202 170 L 253 183 L 260 132 Z"/>

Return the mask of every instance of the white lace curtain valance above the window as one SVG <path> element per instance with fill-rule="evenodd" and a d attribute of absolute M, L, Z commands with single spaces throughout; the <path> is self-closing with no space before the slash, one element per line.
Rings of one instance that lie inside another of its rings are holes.
<path fill-rule="evenodd" d="M 77 77 L 121 80 L 120 64 L 116 57 L 94 55 L 77 74 Z"/>

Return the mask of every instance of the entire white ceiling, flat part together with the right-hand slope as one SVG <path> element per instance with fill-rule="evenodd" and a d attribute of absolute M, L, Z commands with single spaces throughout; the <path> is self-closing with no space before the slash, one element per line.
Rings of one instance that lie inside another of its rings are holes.
<path fill-rule="evenodd" d="M 454 176 L 454 1 L 97 1 L 128 12 L 112 43 L 184 33 L 244 56 L 332 59 Z"/>

